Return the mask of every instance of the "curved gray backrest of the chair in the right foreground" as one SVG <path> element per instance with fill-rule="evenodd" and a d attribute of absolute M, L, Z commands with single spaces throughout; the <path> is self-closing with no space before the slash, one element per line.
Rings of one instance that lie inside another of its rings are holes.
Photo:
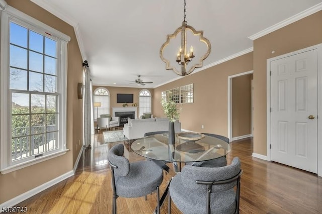
<path fill-rule="evenodd" d="M 203 191 L 205 190 L 205 186 L 198 184 L 196 181 L 205 181 L 210 183 L 215 181 L 225 181 L 235 177 L 239 172 L 240 160 L 238 157 L 234 157 L 230 165 L 223 167 L 198 167 L 187 165 L 183 167 L 181 176 L 185 187 Z M 211 191 L 223 192 L 233 188 L 236 184 L 237 180 L 212 185 Z"/>

